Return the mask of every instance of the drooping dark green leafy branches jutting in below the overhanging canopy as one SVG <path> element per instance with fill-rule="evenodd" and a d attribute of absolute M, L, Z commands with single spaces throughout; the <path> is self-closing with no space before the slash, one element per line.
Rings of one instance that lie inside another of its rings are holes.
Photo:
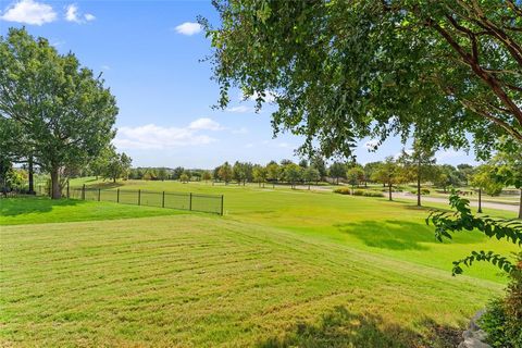
<path fill-rule="evenodd" d="M 449 204 L 457 211 L 434 210 L 426 219 L 426 224 L 432 222 L 435 225 L 435 238 L 443 241 L 444 238 L 452 239 L 451 233 L 462 231 L 477 229 L 487 237 L 496 237 L 498 240 L 505 238 L 519 247 L 522 246 L 522 221 L 515 219 L 499 219 L 490 216 L 474 216 L 471 213 L 470 201 L 460 198 L 455 190 L 449 197 Z M 498 266 L 500 270 L 511 274 L 515 272 L 517 266 L 511 263 L 507 257 L 495 253 L 494 251 L 472 251 L 470 256 L 453 261 L 452 274 L 463 272 L 461 265 L 471 266 L 475 261 L 487 261 Z"/>

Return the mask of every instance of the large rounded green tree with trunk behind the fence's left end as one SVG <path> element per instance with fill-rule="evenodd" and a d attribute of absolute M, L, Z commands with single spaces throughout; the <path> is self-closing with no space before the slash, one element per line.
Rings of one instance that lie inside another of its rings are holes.
<path fill-rule="evenodd" d="M 17 154 L 50 173 L 53 199 L 61 172 L 85 165 L 114 137 L 116 114 L 101 76 L 73 53 L 58 53 L 24 28 L 0 37 L 0 117 L 20 126 Z"/>

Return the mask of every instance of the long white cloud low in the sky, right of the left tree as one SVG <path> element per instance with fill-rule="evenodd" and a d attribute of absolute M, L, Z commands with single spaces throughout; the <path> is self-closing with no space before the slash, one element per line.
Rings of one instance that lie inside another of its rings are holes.
<path fill-rule="evenodd" d="M 201 146 L 215 141 L 189 127 L 162 127 L 147 124 L 137 127 L 121 127 L 113 144 L 119 149 L 167 149 L 185 146 Z"/>

